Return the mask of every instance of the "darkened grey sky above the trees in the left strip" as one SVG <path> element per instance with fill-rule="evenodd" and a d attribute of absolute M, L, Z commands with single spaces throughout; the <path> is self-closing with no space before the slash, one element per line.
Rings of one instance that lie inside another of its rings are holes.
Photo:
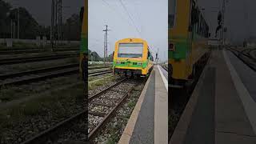
<path fill-rule="evenodd" d="M 32 14 L 33 18 L 44 26 L 50 26 L 51 0 L 4 0 L 10 2 L 13 7 L 21 6 Z M 72 14 L 79 14 L 83 0 L 62 0 L 63 22 Z M 66 7 L 68 6 L 68 7 Z"/>

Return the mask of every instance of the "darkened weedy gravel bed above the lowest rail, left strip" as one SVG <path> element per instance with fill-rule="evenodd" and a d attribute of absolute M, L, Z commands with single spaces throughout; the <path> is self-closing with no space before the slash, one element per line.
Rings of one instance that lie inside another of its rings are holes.
<path fill-rule="evenodd" d="M 50 109 L 50 106 L 42 107 L 42 109 L 36 112 L 37 115 L 30 115 L 22 117 L 22 119 L 14 120 L 10 117 L 14 123 L 1 130 L 0 143 L 20 143 L 28 138 L 31 138 L 35 134 L 38 134 L 42 130 L 46 130 L 56 123 L 69 118 L 73 114 L 77 114 L 84 109 L 86 103 L 77 102 L 76 98 L 69 98 L 68 101 L 59 101 L 55 103 L 58 105 L 58 109 Z M 22 109 L 22 106 L 21 106 Z M 17 141 L 18 140 L 18 141 Z"/>

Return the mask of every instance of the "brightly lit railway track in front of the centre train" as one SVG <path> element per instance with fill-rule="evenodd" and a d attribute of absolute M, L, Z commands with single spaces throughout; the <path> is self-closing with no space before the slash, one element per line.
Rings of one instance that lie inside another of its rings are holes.
<path fill-rule="evenodd" d="M 92 141 L 93 138 L 97 136 L 98 132 L 104 128 L 110 118 L 114 116 L 118 107 L 126 101 L 126 98 L 138 84 L 139 82 L 124 78 L 88 98 L 89 141 Z M 97 122 L 95 122 L 95 120 Z"/>

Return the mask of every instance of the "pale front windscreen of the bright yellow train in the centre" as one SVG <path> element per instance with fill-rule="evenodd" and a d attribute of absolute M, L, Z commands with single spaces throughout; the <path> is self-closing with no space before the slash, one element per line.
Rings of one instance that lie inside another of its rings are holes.
<path fill-rule="evenodd" d="M 118 58 L 142 58 L 142 43 L 120 43 Z"/>

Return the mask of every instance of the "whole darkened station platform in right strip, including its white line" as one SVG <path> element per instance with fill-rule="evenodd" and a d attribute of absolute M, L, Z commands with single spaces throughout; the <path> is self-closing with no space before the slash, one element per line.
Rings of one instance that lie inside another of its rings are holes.
<path fill-rule="evenodd" d="M 256 72 L 212 50 L 170 144 L 255 144 Z"/>

